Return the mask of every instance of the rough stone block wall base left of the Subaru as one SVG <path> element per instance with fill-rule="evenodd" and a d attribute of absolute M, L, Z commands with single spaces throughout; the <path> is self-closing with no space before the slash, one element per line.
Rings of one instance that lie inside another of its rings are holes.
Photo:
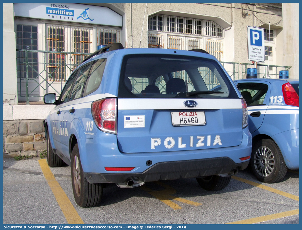
<path fill-rule="evenodd" d="M 46 150 L 44 119 L 3 121 L 3 157 L 39 156 Z"/>

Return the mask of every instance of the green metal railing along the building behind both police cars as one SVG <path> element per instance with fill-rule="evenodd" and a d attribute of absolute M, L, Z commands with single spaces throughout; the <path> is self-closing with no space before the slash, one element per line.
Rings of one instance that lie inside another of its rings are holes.
<path fill-rule="evenodd" d="M 43 96 L 50 92 L 59 96 L 68 76 L 90 54 L 25 49 L 16 51 L 18 101 L 26 100 L 26 104 L 29 104 L 29 101 L 42 100 Z M 247 68 L 254 68 L 254 64 L 250 63 L 221 62 L 221 64 L 233 80 L 244 78 Z M 269 65 L 272 69 L 268 71 L 268 65 L 258 64 L 258 67 L 257 73 L 259 72 L 260 78 L 278 78 L 279 70 L 291 68 Z"/>

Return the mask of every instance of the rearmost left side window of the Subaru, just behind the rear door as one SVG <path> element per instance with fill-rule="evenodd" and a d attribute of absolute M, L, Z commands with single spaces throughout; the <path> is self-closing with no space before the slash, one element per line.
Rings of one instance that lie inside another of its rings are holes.
<path fill-rule="evenodd" d="M 95 92 L 95 90 L 97 90 L 100 86 L 104 74 L 106 61 L 107 59 L 99 59 L 95 61 L 95 63 L 92 65 L 83 92 L 83 97 L 88 94 L 91 94 L 92 92 Z"/>

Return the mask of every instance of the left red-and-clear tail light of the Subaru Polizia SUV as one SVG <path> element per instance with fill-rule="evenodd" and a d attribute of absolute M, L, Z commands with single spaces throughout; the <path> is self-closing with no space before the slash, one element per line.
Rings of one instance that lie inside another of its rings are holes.
<path fill-rule="evenodd" d="M 105 98 L 92 102 L 92 117 L 101 131 L 116 134 L 116 108 L 117 98 Z"/>

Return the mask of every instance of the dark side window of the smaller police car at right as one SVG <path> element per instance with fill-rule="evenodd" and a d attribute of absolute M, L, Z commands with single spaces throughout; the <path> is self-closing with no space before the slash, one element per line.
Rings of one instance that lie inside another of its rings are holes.
<path fill-rule="evenodd" d="M 264 105 L 264 98 L 268 91 L 268 85 L 262 83 L 238 83 L 237 88 L 248 106 Z"/>

